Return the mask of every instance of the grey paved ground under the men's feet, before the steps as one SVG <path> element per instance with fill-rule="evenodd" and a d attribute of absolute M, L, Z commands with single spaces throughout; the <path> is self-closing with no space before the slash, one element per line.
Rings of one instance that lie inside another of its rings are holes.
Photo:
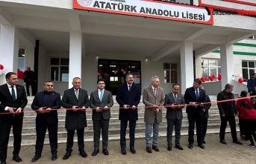
<path fill-rule="evenodd" d="M 239 136 L 239 133 L 237 134 Z M 196 136 L 195 136 L 196 140 Z M 240 137 L 239 137 L 240 140 Z M 50 146 L 45 145 L 43 148 L 42 157 L 36 163 L 54 163 L 54 164 L 81 164 L 81 163 L 256 163 L 256 148 L 249 146 L 249 141 L 240 140 L 243 145 L 237 145 L 232 142 L 231 134 L 225 135 L 225 141 L 228 145 L 223 145 L 219 142 L 219 134 L 207 134 L 205 137 L 205 149 L 199 148 L 195 142 L 193 149 L 187 148 L 187 136 L 181 136 L 181 146 L 183 151 L 175 148 L 172 145 L 172 151 L 167 151 L 166 137 L 159 137 L 157 147 L 159 152 L 152 150 L 152 154 L 146 152 L 145 139 L 135 140 L 135 149 L 137 154 L 131 154 L 129 151 L 129 140 L 127 140 L 127 154 L 122 155 L 120 152 L 119 140 L 110 140 L 108 143 L 108 151 L 110 155 L 104 156 L 102 148 L 99 154 L 95 157 L 91 156 L 93 153 L 93 142 L 85 142 L 85 151 L 88 157 L 83 158 L 79 155 L 78 145 L 75 142 L 73 146 L 72 156 L 68 160 L 63 160 L 62 157 L 66 153 L 66 144 L 59 144 L 58 159 L 51 161 Z M 174 142 L 174 137 L 172 137 Z M 8 148 L 7 163 L 16 163 L 12 160 L 13 147 Z M 34 157 L 34 145 L 22 146 L 19 157 L 22 158 L 22 163 L 31 163 Z M 35 163 L 35 164 L 36 164 Z"/>

